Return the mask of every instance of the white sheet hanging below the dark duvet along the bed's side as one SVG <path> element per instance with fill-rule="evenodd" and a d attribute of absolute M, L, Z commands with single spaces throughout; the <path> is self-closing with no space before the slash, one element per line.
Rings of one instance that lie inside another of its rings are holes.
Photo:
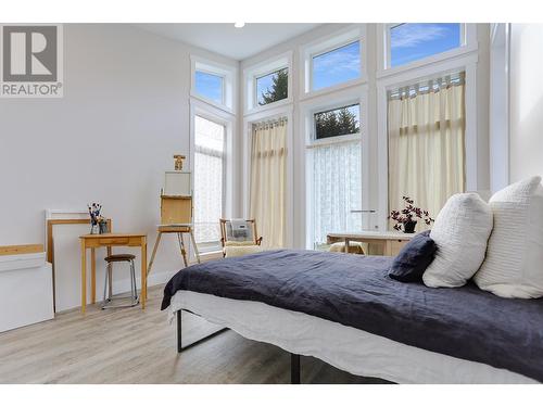
<path fill-rule="evenodd" d="M 180 308 L 250 340 L 317 357 L 353 374 L 396 383 L 536 383 L 505 369 L 425 351 L 258 302 L 178 291 L 169 306 L 171 320 Z"/>

